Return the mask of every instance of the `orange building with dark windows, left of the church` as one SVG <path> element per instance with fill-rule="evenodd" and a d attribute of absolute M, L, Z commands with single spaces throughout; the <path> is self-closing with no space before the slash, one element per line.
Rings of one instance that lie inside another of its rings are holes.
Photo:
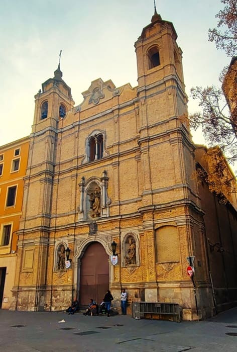
<path fill-rule="evenodd" d="M 0 306 L 12 303 L 29 137 L 0 147 Z"/>

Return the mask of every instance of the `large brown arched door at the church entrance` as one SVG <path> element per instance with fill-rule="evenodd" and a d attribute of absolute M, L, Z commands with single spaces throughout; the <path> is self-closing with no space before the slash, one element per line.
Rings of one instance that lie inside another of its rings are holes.
<path fill-rule="evenodd" d="M 92 242 L 81 258 L 79 301 L 87 306 L 93 298 L 98 304 L 109 289 L 108 254 L 98 242 Z"/>

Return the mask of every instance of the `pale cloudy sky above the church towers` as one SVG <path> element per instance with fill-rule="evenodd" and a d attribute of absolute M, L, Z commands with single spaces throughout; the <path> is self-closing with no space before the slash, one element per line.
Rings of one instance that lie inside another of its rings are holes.
<path fill-rule="evenodd" d="M 220 0 L 157 0 L 157 12 L 173 23 L 183 51 L 186 93 L 192 86 L 218 84 L 230 58 L 208 42 L 217 25 Z M 64 81 L 75 106 L 91 81 L 111 79 L 115 86 L 137 85 L 134 43 L 151 22 L 154 0 L 1 0 L 0 145 L 28 136 L 34 96 L 54 76 L 61 55 Z M 189 113 L 198 103 L 189 99 Z M 205 143 L 193 133 L 195 143 Z"/>

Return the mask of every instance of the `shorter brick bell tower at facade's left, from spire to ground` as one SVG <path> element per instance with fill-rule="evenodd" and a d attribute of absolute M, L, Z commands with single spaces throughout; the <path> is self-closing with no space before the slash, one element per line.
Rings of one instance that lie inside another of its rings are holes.
<path fill-rule="evenodd" d="M 58 122 L 73 107 L 70 87 L 60 62 L 54 77 L 35 96 L 35 114 L 25 178 L 23 216 L 19 230 L 19 273 L 14 288 L 16 309 L 43 310 L 47 296 L 47 265 Z M 30 287 L 30 289 L 28 289 Z"/>

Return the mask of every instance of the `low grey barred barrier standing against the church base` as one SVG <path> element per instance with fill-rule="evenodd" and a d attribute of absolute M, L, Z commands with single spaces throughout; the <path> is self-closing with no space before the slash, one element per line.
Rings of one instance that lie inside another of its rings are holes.
<path fill-rule="evenodd" d="M 132 317 L 181 321 L 179 305 L 166 302 L 132 302 Z"/>

